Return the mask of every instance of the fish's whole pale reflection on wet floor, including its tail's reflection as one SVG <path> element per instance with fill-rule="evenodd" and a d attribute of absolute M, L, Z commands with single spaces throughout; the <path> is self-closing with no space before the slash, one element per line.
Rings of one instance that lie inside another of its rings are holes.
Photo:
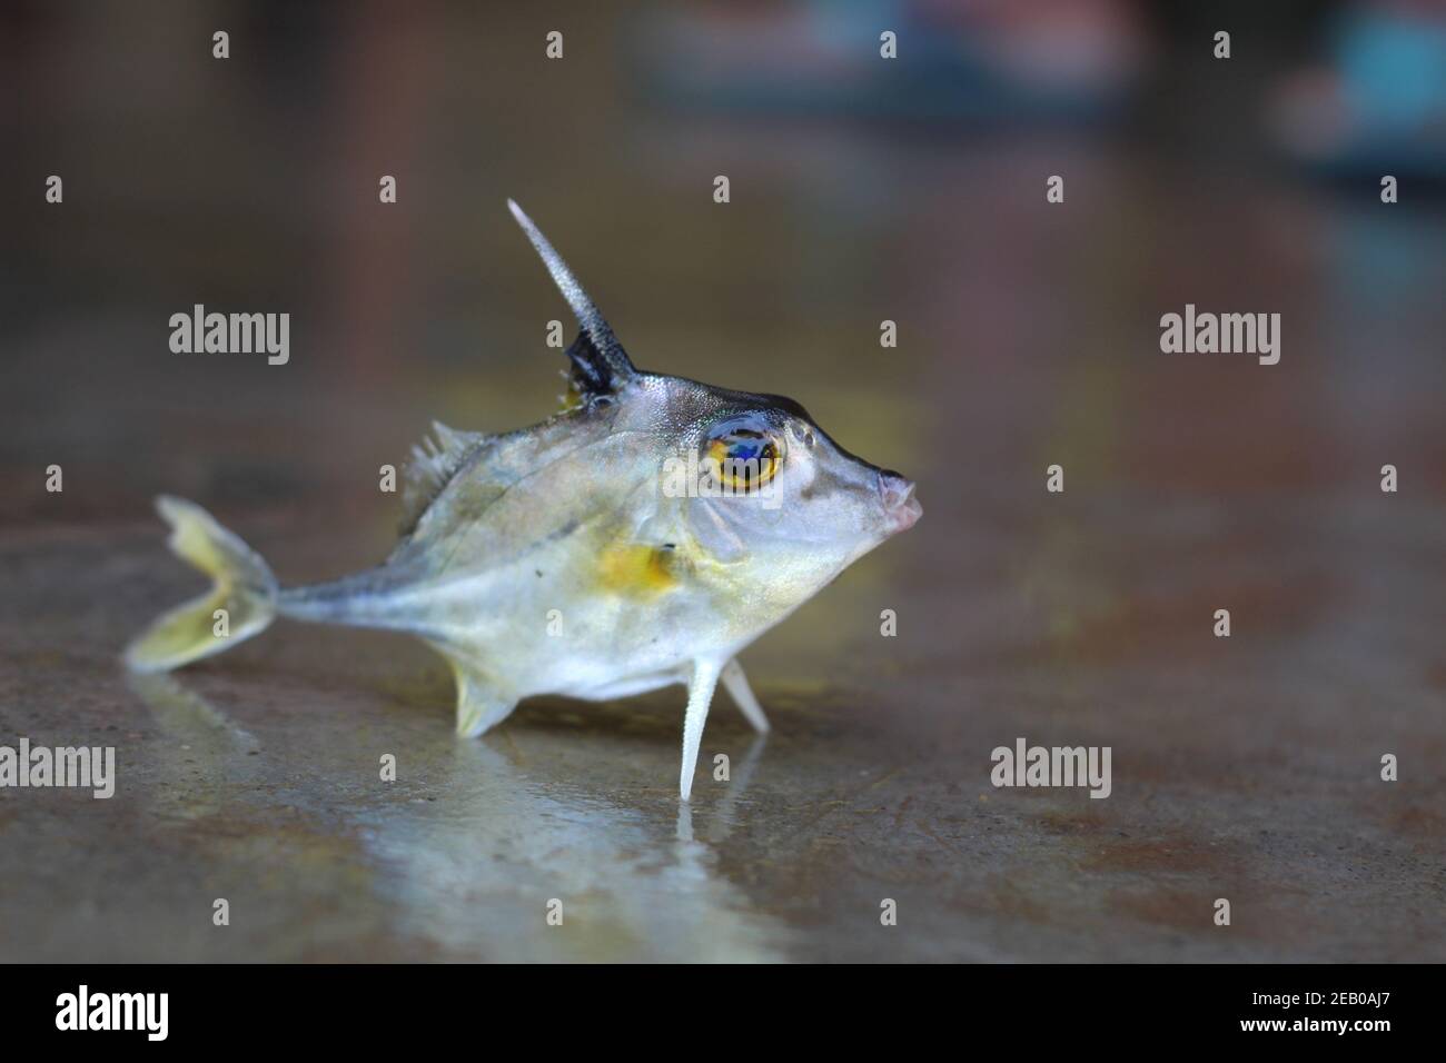
<path fill-rule="evenodd" d="M 172 675 L 130 683 L 172 739 L 155 765 L 153 814 L 205 827 L 254 800 L 266 772 L 249 759 L 262 752 L 252 735 Z M 651 817 L 596 788 L 539 785 L 510 742 L 447 739 L 427 800 L 389 803 L 379 782 L 376 798 L 343 819 L 375 868 L 389 930 L 448 956 L 777 960 L 787 928 L 717 875 L 713 849 L 736 823 L 765 740 L 753 740 L 732 785 L 700 813 L 704 840 L 691 804 L 677 803 L 674 837 L 664 839 Z M 512 746 L 510 755 L 493 745 Z M 181 795 L 188 775 L 198 785 Z M 549 913 L 561 918 L 549 923 Z"/>

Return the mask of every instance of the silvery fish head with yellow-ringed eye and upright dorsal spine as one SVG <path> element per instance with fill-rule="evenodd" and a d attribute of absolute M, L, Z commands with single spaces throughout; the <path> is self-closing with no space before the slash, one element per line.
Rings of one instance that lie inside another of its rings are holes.
<path fill-rule="evenodd" d="M 918 521 L 910 480 L 850 454 L 792 399 L 636 369 L 552 244 L 509 205 L 577 317 L 567 356 L 578 415 L 607 411 L 597 471 L 619 498 L 646 499 L 620 515 L 629 535 L 685 547 L 684 561 L 722 580 L 730 605 L 759 606 L 756 631 Z M 678 568 L 654 561 L 646 571 L 669 580 Z"/>

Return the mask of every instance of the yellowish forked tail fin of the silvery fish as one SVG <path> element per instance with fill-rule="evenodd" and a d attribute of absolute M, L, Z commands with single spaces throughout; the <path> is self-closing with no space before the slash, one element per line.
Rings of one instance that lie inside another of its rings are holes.
<path fill-rule="evenodd" d="M 139 673 L 171 671 L 220 654 L 276 616 L 276 577 L 256 551 L 194 502 L 162 495 L 156 512 L 171 525 L 171 550 L 215 584 L 158 618 L 126 648 L 126 665 Z"/>

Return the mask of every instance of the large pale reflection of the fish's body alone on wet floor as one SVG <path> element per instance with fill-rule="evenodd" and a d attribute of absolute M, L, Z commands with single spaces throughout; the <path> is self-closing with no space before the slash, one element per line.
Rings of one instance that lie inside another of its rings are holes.
<path fill-rule="evenodd" d="M 739 780 L 739 787 L 746 785 Z M 360 817 L 393 872 L 398 930 L 519 960 L 769 960 L 784 931 L 716 874 L 680 803 L 677 837 L 586 785 L 539 785 L 489 743 L 455 743 L 438 795 L 416 816 Z M 737 791 L 710 813 L 726 834 Z M 547 933 L 560 902 L 562 933 Z"/>

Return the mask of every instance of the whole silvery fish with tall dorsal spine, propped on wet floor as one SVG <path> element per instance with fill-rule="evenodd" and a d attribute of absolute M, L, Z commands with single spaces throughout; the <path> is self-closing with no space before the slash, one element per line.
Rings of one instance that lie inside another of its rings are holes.
<path fill-rule="evenodd" d="M 172 671 L 276 618 L 405 632 L 451 665 L 466 738 L 528 697 L 683 686 L 688 801 L 719 684 L 769 729 L 739 652 L 923 508 L 912 482 L 846 451 L 792 399 L 635 367 L 508 205 L 577 318 L 562 409 L 502 434 L 434 422 L 403 473 L 396 547 L 330 583 L 282 589 L 205 509 L 158 498 L 171 550 L 213 586 L 156 619 L 124 664 Z"/>

